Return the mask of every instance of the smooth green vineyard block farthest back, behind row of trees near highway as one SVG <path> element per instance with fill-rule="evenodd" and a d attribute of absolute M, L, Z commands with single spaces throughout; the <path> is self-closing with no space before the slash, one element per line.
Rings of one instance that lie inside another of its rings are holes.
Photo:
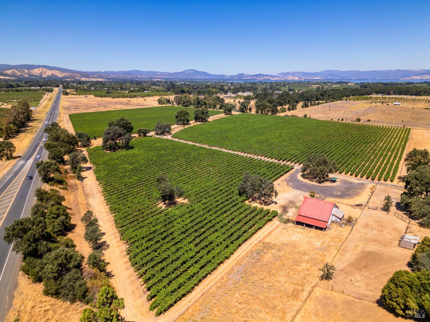
<path fill-rule="evenodd" d="M 135 133 L 138 128 L 149 128 L 154 130 L 155 124 L 169 122 L 175 124 L 175 114 L 179 109 L 187 109 L 190 119 L 194 119 L 194 108 L 181 106 L 155 106 L 138 109 L 116 109 L 112 111 L 85 112 L 70 114 L 70 120 L 76 131 L 88 133 L 90 137 L 101 137 L 110 121 L 117 118 L 128 118 L 134 127 Z M 209 110 L 209 115 L 220 114 L 222 111 Z"/>

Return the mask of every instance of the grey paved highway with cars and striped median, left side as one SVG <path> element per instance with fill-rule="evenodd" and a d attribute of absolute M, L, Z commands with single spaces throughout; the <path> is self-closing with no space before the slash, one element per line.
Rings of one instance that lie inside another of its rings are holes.
<path fill-rule="evenodd" d="M 0 179 L 0 321 L 4 321 L 12 305 L 13 292 L 17 284 L 21 255 L 12 251 L 12 245 L 3 240 L 4 229 L 16 219 L 28 216 L 34 204 L 34 191 L 42 185 L 35 163 L 46 160 L 48 152 L 43 149 L 43 140 L 48 134 L 43 132 L 45 122 L 58 119 L 58 107 L 61 99 L 60 87 L 44 122 L 37 130 L 28 148 L 18 162 Z M 37 158 L 37 155 L 40 158 Z M 33 176 L 33 179 L 27 179 Z"/>

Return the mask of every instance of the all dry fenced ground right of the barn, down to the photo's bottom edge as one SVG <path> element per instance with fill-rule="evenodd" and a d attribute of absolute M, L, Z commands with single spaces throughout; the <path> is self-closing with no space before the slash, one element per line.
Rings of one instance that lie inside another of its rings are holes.
<path fill-rule="evenodd" d="M 399 200 L 401 192 L 378 185 L 369 206 L 381 207 L 387 194 Z M 397 246 L 399 237 L 408 227 L 421 238 L 430 231 L 412 220 L 410 224 L 402 221 L 394 216 L 395 211 L 404 215 L 395 207 L 388 214 L 368 208 L 363 211 L 333 261 L 337 268 L 335 279 L 319 282 L 297 321 L 310 316 L 313 321 L 402 320 L 381 307 L 381 289 L 396 270 L 410 270 L 412 250 Z"/>

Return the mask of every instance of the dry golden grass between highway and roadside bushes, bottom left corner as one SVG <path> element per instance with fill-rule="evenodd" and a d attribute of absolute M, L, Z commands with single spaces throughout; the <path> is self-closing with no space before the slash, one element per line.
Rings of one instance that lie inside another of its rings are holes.
<path fill-rule="evenodd" d="M 42 294 L 43 285 L 34 284 L 19 272 L 18 287 L 6 321 L 79 321 L 86 305 L 70 304 Z"/>

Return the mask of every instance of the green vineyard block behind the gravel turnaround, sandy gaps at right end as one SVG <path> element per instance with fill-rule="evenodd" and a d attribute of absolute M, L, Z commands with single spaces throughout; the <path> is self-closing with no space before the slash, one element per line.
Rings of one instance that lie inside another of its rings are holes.
<path fill-rule="evenodd" d="M 244 113 L 172 137 L 273 159 L 279 154 L 280 160 L 297 164 L 310 153 L 324 153 L 339 173 L 393 181 L 409 133 L 409 128 Z"/>

